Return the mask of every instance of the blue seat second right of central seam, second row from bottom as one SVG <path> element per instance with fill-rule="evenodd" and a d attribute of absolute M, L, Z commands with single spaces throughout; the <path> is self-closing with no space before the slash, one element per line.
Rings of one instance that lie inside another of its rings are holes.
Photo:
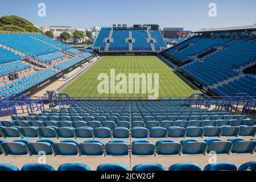
<path fill-rule="evenodd" d="M 156 154 L 158 155 L 180 155 L 181 144 L 174 140 L 159 140 L 156 142 Z"/>

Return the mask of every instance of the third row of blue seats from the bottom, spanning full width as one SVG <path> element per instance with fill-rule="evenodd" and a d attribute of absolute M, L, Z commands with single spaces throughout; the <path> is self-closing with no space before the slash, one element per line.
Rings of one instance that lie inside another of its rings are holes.
<path fill-rule="evenodd" d="M 75 122 L 76 123 L 76 122 Z M 89 122 L 90 124 L 90 122 Z M 111 124 L 111 122 L 110 122 Z M 130 134 L 131 133 L 131 134 Z M 172 126 L 134 127 L 131 132 L 127 127 L 0 127 L 3 138 L 185 138 L 185 137 L 254 137 L 256 126 L 205 126 L 186 128 Z"/>

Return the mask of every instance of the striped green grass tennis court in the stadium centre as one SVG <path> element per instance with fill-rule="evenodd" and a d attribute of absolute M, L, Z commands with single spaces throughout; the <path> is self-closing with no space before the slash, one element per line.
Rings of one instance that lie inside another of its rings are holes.
<path fill-rule="evenodd" d="M 128 93 L 99 93 L 98 85 L 101 83 L 101 80 L 98 80 L 98 75 L 107 73 L 110 77 L 110 69 L 115 69 L 115 75 L 124 73 L 127 77 L 129 73 L 146 73 L 146 75 L 148 73 L 158 73 L 159 97 L 187 97 L 193 93 L 200 92 L 189 86 L 176 75 L 175 71 L 156 56 L 105 56 L 94 64 L 92 68 L 61 90 L 61 93 L 67 93 L 72 97 L 148 97 L 148 93 L 142 93 L 142 81 L 139 93 L 129 93 L 128 91 Z M 154 76 L 152 77 L 152 86 L 154 88 L 155 80 Z M 129 82 L 128 80 L 127 78 L 127 82 Z M 115 81 L 115 84 L 118 82 Z M 127 88 L 127 90 L 129 89 Z"/>

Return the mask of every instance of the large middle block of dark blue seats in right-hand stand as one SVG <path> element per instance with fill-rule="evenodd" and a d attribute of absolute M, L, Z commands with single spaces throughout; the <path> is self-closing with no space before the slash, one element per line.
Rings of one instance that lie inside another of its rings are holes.
<path fill-rule="evenodd" d="M 204 61 L 184 65 L 181 69 L 205 86 L 212 85 L 228 77 L 238 75 L 238 71 L 234 71 L 234 68 L 254 61 L 255 49 L 256 40 L 250 42 L 245 42 L 244 39 L 234 40 L 224 50 L 209 55 Z"/>

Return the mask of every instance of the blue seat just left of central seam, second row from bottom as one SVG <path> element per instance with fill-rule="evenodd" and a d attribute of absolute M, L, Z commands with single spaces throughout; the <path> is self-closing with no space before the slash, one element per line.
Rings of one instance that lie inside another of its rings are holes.
<path fill-rule="evenodd" d="M 129 143 L 124 140 L 111 140 L 106 143 L 106 155 L 123 156 L 129 154 Z"/>

